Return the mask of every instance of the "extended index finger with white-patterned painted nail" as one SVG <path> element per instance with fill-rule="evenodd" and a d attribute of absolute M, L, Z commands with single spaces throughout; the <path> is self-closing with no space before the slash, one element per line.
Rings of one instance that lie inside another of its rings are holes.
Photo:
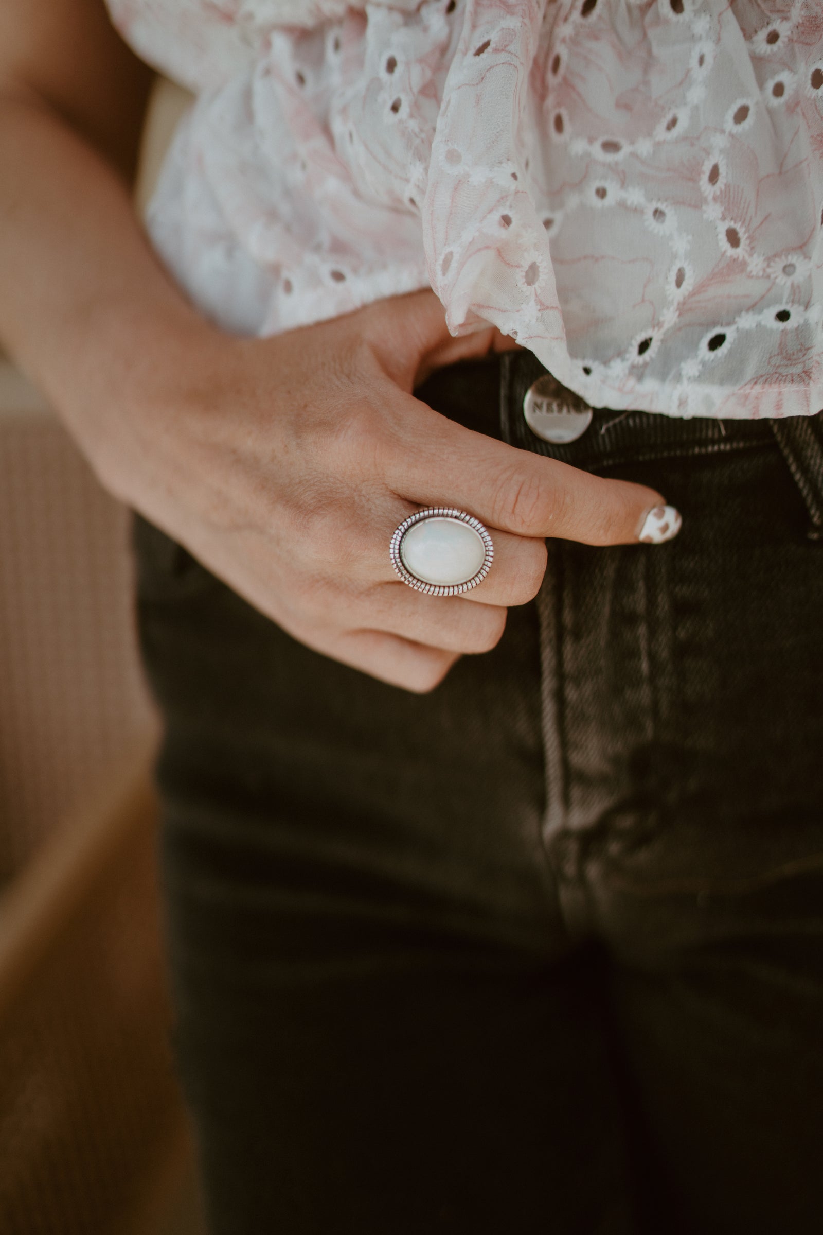
<path fill-rule="evenodd" d="M 680 516 L 655 489 L 506 446 L 416 399 L 407 401 L 406 426 L 407 440 L 386 459 L 386 480 L 420 505 L 453 505 L 490 529 L 585 545 L 660 543 L 680 530 Z"/>

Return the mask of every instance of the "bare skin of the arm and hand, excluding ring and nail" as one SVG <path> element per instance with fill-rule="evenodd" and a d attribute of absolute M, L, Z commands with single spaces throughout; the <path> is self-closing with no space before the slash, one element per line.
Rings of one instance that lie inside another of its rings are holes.
<path fill-rule="evenodd" d="M 433 369 L 511 346 L 449 335 L 417 293 L 270 340 L 201 319 L 134 217 L 151 75 L 102 0 L 0 9 L 0 340 L 116 496 L 295 638 L 408 690 L 500 640 L 547 536 L 631 543 L 653 489 L 470 432 L 415 399 Z M 453 505 L 492 534 L 463 597 L 394 576 L 396 525 Z"/>

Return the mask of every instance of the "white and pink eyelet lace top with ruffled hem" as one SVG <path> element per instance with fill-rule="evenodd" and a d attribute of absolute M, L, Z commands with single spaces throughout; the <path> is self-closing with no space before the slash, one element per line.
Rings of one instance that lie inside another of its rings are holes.
<path fill-rule="evenodd" d="M 431 285 L 595 406 L 823 409 L 821 0 L 109 0 L 197 101 L 149 210 L 271 335 Z"/>

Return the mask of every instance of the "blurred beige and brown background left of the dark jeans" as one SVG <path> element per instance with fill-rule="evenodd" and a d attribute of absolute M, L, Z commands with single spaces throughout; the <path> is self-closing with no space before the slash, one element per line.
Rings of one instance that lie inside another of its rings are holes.
<path fill-rule="evenodd" d="M 144 205 L 185 94 L 158 83 Z M 195 1235 L 128 513 L 0 357 L 0 1231 Z"/>

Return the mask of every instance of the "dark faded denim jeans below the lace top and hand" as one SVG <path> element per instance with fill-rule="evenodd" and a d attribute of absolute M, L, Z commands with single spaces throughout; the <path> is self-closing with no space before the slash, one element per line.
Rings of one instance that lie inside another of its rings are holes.
<path fill-rule="evenodd" d="M 538 600 L 429 695 L 136 525 L 215 1235 L 821 1228 L 819 417 L 603 411 L 549 448 L 542 372 L 420 393 L 660 489 L 682 531 L 552 542 Z"/>

